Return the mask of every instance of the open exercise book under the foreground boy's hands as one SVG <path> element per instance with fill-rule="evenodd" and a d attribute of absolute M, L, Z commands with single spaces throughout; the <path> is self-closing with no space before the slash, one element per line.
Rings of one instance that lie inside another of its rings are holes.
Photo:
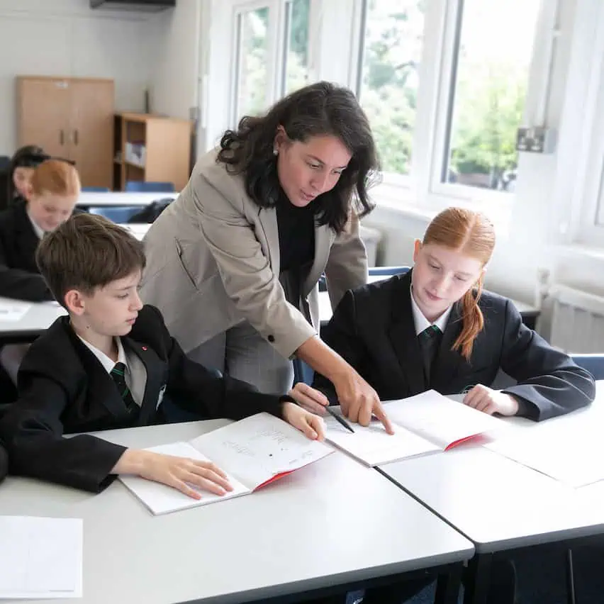
<path fill-rule="evenodd" d="M 189 442 L 162 444 L 147 450 L 211 460 L 228 474 L 233 486 L 233 491 L 223 496 L 200 489 L 201 499 L 196 500 L 172 487 L 139 476 L 120 476 L 125 486 L 156 515 L 249 495 L 333 452 L 328 445 L 309 440 L 295 427 L 269 413 L 251 415 Z"/>

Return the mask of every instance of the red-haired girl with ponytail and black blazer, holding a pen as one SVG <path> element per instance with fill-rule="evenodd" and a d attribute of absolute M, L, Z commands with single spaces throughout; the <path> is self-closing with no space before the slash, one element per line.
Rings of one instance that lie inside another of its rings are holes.
<path fill-rule="evenodd" d="M 325 343 L 382 401 L 433 388 L 465 393 L 464 403 L 484 413 L 536 421 L 588 405 L 595 397 L 591 374 L 527 328 L 510 300 L 483 291 L 494 246 L 486 216 L 462 208 L 442 211 L 423 242 L 415 242 L 410 272 L 347 291 L 322 332 Z M 518 383 L 493 390 L 499 369 Z M 315 375 L 313 386 L 335 402 L 323 376 Z M 325 396 L 304 384 L 296 389 L 306 408 L 321 413 Z M 369 405 L 345 413 L 364 424 L 371 419 Z M 364 602 L 398 603 L 427 582 L 369 590 Z M 501 561 L 493 568 L 488 602 L 514 601 L 515 568 Z"/>

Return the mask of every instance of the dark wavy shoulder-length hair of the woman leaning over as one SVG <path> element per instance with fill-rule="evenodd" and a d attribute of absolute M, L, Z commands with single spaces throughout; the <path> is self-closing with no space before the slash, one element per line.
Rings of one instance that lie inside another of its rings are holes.
<path fill-rule="evenodd" d="M 379 173 L 379 161 L 369 121 L 352 91 L 329 82 L 292 92 L 264 116 L 245 116 L 237 130 L 223 134 L 216 161 L 233 174 L 245 174 L 247 194 L 258 206 L 274 206 L 279 198 L 273 155 L 279 126 L 289 140 L 300 142 L 313 136 L 335 136 L 352 155 L 335 187 L 316 198 L 318 224 L 340 233 L 351 209 L 362 217 L 374 208 L 367 189 Z"/>

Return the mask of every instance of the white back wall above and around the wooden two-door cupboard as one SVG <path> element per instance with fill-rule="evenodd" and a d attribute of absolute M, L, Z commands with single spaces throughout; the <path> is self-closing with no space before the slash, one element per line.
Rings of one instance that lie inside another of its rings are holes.
<path fill-rule="evenodd" d="M 116 111 L 140 111 L 150 82 L 145 13 L 93 11 L 89 0 L 0 0 L 0 154 L 16 147 L 16 75 L 104 77 Z"/>

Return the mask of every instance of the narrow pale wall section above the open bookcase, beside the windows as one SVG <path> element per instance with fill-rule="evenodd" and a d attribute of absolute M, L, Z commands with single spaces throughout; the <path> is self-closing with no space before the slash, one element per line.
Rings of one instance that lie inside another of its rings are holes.
<path fill-rule="evenodd" d="M 179 0 L 152 20 L 151 109 L 189 119 L 198 104 L 201 0 Z"/>

